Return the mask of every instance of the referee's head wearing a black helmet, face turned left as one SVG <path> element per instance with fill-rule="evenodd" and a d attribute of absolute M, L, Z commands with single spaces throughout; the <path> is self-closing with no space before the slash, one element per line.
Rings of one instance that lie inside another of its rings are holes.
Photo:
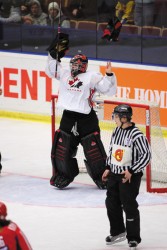
<path fill-rule="evenodd" d="M 131 106 L 120 104 L 114 108 L 112 118 L 115 120 L 118 127 L 123 127 L 125 124 L 131 123 L 133 111 Z"/>

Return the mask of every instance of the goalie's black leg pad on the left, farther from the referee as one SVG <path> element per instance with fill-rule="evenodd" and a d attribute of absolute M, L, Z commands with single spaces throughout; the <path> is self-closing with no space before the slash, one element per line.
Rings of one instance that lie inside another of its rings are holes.
<path fill-rule="evenodd" d="M 79 173 L 75 158 L 76 148 L 71 148 L 72 136 L 62 130 L 55 132 L 51 151 L 53 176 L 50 184 L 58 188 L 68 186 Z M 72 152 L 73 151 L 73 152 Z"/>

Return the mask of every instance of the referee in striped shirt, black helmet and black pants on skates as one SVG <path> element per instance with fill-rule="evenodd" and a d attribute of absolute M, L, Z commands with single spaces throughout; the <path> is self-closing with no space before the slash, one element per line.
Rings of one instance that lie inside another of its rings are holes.
<path fill-rule="evenodd" d="M 147 138 L 131 122 L 132 108 L 122 104 L 114 108 L 117 127 L 112 133 L 107 170 L 102 180 L 107 182 L 106 208 L 110 222 L 110 235 L 106 244 L 127 238 L 129 247 L 141 242 L 140 213 L 137 196 L 143 170 L 150 162 L 151 151 Z M 124 225 L 123 211 L 126 215 Z"/>

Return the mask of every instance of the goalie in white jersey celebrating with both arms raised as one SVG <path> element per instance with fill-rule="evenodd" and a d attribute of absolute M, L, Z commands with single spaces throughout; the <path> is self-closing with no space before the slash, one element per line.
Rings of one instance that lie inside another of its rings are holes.
<path fill-rule="evenodd" d="M 88 174 L 96 185 L 103 189 L 106 184 L 101 176 L 105 170 L 106 153 L 100 139 L 92 97 L 95 92 L 110 96 L 116 94 L 116 77 L 110 62 L 107 63 L 105 76 L 87 70 L 88 58 L 83 54 L 75 55 L 70 60 L 69 69 L 64 68 L 60 59 L 68 49 L 68 43 L 68 35 L 60 33 L 59 39 L 56 38 L 48 48 L 46 73 L 60 81 L 57 107 L 64 110 L 52 145 L 53 176 L 50 184 L 64 188 L 78 175 L 79 168 L 75 156 L 81 143 Z"/>

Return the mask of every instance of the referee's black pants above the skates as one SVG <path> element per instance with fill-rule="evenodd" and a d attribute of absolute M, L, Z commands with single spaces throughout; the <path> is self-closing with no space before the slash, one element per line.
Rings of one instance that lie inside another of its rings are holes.
<path fill-rule="evenodd" d="M 142 173 L 133 174 L 131 182 L 122 183 L 122 175 L 111 173 L 107 184 L 106 208 L 112 236 L 127 232 L 128 242 L 140 238 L 140 213 L 136 198 Z M 125 220 L 123 211 L 125 212 Z"/>

